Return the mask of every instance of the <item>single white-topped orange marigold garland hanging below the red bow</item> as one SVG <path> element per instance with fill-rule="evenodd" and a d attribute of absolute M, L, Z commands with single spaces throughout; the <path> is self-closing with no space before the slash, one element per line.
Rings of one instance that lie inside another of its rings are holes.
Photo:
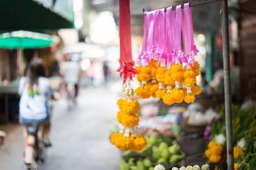
<path fill-rule="evenodd" d="M 146 139 L 139 135 L 135 126 L 139 125 L 140 106 L 137 100 L 132 100 L 134 90 L 132 89 L 131 80 L 123 84 L 121 89 L 123 98 L 117 101 L 119 112 L 117 113 L 117 120 L 122 124 L 121 130 L 111 135 L 111 142 L 117 148 L 124 151 L 132 150 L 139 152 L 146 146 Z"/>

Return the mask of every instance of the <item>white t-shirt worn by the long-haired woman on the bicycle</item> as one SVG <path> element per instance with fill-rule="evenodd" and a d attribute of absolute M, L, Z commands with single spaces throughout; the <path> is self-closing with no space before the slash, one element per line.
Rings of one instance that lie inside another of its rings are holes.
<path fill-rule="evenodd" d="M 28 77 L 22 77 L 18 86 L 18 94 L 21 95 L 19 102 L 19 114 L 22 118 L 43 119 L 48 115 L 48 98 L 52 91 L 50 81 L 46 77 L 38 78 L 38 95 L 28 96 Z"/>

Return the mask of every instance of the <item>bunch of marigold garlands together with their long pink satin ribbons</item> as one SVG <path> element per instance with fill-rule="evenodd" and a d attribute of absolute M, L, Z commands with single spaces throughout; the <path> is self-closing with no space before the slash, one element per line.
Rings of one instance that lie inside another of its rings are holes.
<path fill-rule="evenodd" d="M 144 51 L 136 67 L 141 86 L 135 94 L 141 98 L 162 98 L 167 105 L 182 101 L 193 103 L 201 88 L 196 84 L 200 64 L 196 61 L 198 50 L 193 42 L 189 4 L 185 4 L 184 9 L 181 5 L 176 6 L 176 16 L 172 7 L 167 8 L 166 13 L 160 9 L 146 12 L 146 15 L 149 17 L 144 18 L 144 27 L 149 30 L 144 28 Z M 184 52 L 181 50 L 181 28 Z"/>

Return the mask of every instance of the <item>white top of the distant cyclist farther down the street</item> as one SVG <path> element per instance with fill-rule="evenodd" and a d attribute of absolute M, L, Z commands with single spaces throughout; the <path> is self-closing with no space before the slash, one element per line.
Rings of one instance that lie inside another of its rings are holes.
<path fill-rule="evenodd" d="M 80 74 L 80 66 L 78 62 L 65 62 L 63 65 L 63 72 L 65 83 L 78 84 Z"/>

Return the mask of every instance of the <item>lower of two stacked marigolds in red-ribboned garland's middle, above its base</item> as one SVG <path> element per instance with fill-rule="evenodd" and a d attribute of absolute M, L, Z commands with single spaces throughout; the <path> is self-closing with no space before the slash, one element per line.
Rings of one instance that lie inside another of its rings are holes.
<path fill-rule="evenodd" d="M 122 111 L 117 113 L 117 120 L 124 126 L 137 126 L 139 125 L 139 115 L 125 114 Z"/>

